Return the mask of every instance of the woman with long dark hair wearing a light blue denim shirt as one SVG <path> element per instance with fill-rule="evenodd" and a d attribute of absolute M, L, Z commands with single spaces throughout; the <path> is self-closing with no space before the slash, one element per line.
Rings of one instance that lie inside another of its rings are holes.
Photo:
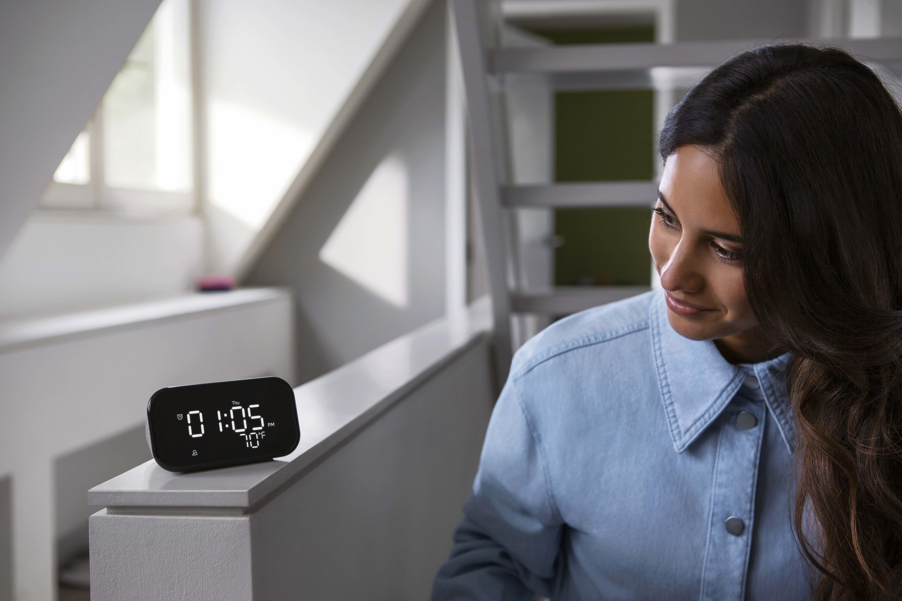
<path fill-rule="evenodd" d="M 433 599 L 902 598 L 902 114 L 768 46 L 660 150 L 664 290 L 517 353 Z"/>

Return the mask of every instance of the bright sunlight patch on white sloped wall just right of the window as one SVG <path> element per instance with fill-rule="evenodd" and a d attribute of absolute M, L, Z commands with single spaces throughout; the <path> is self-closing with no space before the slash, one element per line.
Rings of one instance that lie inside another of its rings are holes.
<path fill-rule="evenodd" d="M 242 106 L 209 106 L 209 202 L 258 230 L 307 158 L 313 135 Z"/>

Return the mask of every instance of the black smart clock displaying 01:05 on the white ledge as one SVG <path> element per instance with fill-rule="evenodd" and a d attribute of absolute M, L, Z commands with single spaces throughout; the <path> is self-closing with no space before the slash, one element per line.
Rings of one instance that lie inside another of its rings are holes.
<path fill-rule="evenodd" d="M 271 460 L 300 440 L 294 391 L 281 378 L 161 388 L 147 403 L 146 433 L 169 471 Z"/>

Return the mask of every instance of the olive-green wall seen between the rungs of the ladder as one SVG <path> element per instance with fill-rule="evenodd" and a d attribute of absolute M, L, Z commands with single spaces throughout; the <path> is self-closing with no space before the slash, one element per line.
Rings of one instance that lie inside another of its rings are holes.
<path fill-rule="evenodd" d="M 654 41 L 650 26 L 533 30 L 556 44 Z M 557 181 L 654 177 L 654 96 L 650 90 L 558 92 L 555 96 Z M 649 198 L 649 205 L 652 199 Z M 558 209 L 558 286 L 649 285 L 649 225 L 644 208 Z"/>

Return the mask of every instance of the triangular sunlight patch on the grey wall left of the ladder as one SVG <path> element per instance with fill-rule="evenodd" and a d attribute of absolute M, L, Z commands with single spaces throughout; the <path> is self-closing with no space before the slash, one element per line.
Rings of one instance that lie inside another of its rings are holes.
<path fill-rule="evenodd" d="M 408 174 L 382 159 L 319 250 L 319 259 L 392 305 L 408 305 Z"/>

